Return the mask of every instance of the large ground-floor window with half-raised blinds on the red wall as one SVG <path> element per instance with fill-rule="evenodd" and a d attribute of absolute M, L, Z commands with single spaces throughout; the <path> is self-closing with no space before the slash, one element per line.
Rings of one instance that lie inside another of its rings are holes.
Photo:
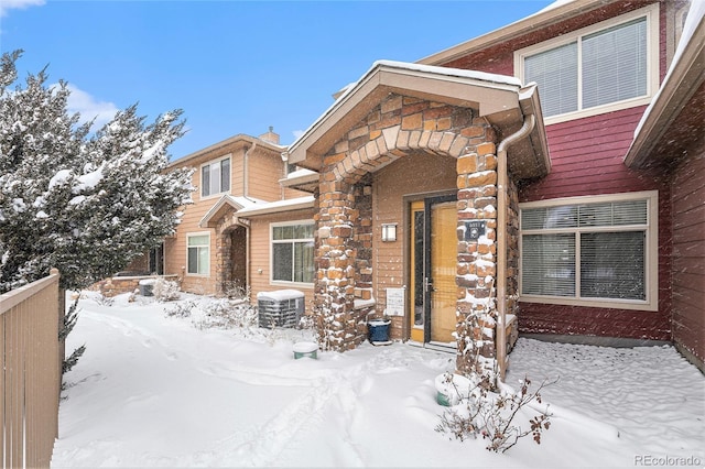
<path fill-rule="evenodd" d="M 520 204 L 521 299 L 657 309 L 657 192 Z"/>

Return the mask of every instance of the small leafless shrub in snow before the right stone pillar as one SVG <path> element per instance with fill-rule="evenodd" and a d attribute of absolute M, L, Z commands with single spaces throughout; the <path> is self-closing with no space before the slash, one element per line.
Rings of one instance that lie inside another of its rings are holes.
<path fill-rule="evenodd" d="M 489 391 L 491 382 L 488 377 L 473 375 L 469 389 L 464 390 L 454 384 L 451 373 L 446 373 L 445 381 L 446 389 L 455 393 L 451 401 L 457 401 L 458 404 L 441 416 L 436 432 L 451 434 L 462 441 L 479 435 L 489 440 L 488 450 L 505 452 L 528 435 L 532 435 L 533 440 L 540 445 L 541 434 L 551 426 L 547 407 L 539 410 L 532 407 L 531 403 L 535 401 L 541 404 L 541 390 L 552 383 L 544 381 L 535 391 L 530 392 L 531 381 L 524 378 L 519 391 L 503 384 L 495 393 Z M 516 417 L 525 407 L 532 407 L 538 414 L 529 419 L 528 427 L 522 427 Z"/>

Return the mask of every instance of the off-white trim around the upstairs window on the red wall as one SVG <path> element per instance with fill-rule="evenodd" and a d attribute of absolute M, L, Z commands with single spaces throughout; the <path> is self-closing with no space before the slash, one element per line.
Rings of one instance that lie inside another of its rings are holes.
<path fill-rule="evenodd" d="M 654 94 L 659 89 L 659 3 L 653 3 L 649 7 L 634 10 L 632 12 L 622 14 L 620 17 L 611 18 L 609 20 L 593 24 L 587 28 L 583 28 L 577 31 L 573 31 L 565 35 L 554 37 L 552 40 L 535 44 L 525 48 L 521 48 L 514 52 L 514 75 L 523 83 L 524 81 L 524 58 L 540 52 L 549 51 L 561 45 L 574 42 L 581 36 L 597 33 L 609 28 L 617 26 L 619 24 L 628 23 L 630 21 L 646 18 L 647 19 L 647 95 L 636 98 L 626 99 L 622 101 L 610 102 L 608 105 L 595 106 L 588 109 L 579 109 L 573 112 L 566 112 L 563 114 L 551 116 L 544 119 L 546 126 L 567 122 L 575 119 L 582 119 L 592 116 L 598 116 L 601 113 L 614 112 L 621 109 L 629 109 L 637 106 L 643 106 L 651 102 Z M 579 62 L 578 62 L 579 63 Z M 581 70 L 578 69 L 578 76 Z M 582 90 L 582 80 L 578 79 L 578 96 Z M 541 94 L 541 90 L 539 90 Z"/>

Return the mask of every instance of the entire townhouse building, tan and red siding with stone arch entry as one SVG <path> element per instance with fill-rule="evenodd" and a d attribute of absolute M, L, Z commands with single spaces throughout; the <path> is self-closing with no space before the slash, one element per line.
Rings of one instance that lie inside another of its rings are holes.
<path fill-rule="evenodd" d="M 336 350 L 387 315 L 392 338 L 449 346 L 460 371 L 503 375 L 517 329 L 675 341 L 702 369 L 702 13 L 676 54 L 688 7 L 558 1 L 375 63 L 289 148 L 240 135 L 177 160 L 208 187 L 223 155 L 259 152 L 273 193 L 234 192 L 240 176 L 206 189 L 165 241 L 166 273 L 191 291 L 301 290 Z"/>

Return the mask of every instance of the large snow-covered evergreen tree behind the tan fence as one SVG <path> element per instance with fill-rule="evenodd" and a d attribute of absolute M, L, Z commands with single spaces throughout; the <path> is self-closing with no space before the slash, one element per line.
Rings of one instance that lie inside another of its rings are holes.
<path fill-rule="evenodd" d="M 145 126 L 132 106 L 91 134 L 66 83 L 41 72 L 10 89 L 19 57 L 0 63 L 0 293 L 51 268 L 80 290 L 174 232 L 193 189 L 191 171 L 164 171 L 182 112 Z"/>

